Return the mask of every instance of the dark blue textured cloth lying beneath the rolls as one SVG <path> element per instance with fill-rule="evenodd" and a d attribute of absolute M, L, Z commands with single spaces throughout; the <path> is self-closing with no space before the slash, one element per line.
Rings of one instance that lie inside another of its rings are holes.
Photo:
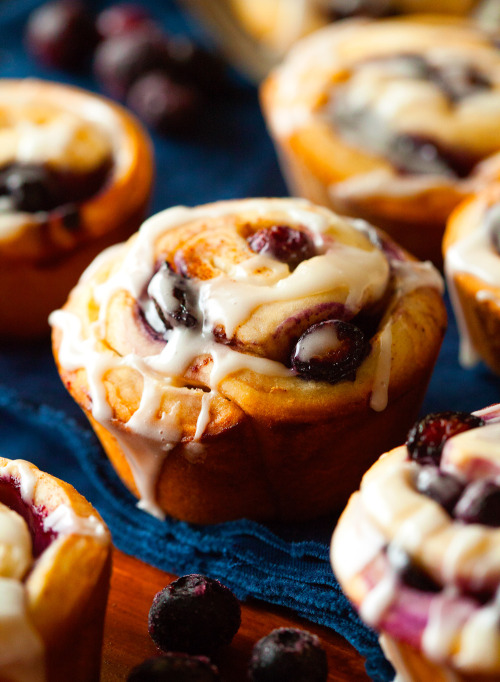
<path fill-rule="evenodd" d="M 37 76 L 96 89 L 90 76 L 47 71 L 25 54 L 23 25 L 37 4 L 0 3 L 0 76 Z M 168 30 L 204 38 L 171 2 L 149 4 Z M 209 130 L 196 140 L 154 137 L 158 178 L 152 212 L 179 203 L 286 194 L 251 85 L 235 78 L 232 91 L 210 105 L 206 116 Z M 457 345 L 450 321 L 423 413 L 472 410 L 500 399 L 500 381 L 484 368 L 460 369 Z M 101 512 L 123 551 L 173 573 L 218 577 L 241 598 L 280 604 L 329 626 L 366 656 L 374 680 L 391 679 L 376 636 L 360 623 L 332 575 L 328 545 L 334 518 L 267 526 L 243 520 L 202 527 L 160 522 L 137 510 L 63 389 L 48 341 L 0 346 L 0 453 L 31 460 L 75 485 Z"/>

